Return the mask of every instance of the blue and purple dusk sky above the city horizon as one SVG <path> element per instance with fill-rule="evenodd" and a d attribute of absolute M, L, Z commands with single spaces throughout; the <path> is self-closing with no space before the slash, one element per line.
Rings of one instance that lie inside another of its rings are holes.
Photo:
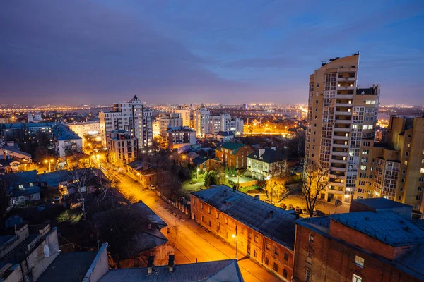
<path fill-rule="evenodd" d="M 382 85 L 382 104 L 420 104 L 419 1 L 209 5 L 5 3 L 2 103 L 306 104 L 321 60 L 360 51 L 360 87 Z"/>

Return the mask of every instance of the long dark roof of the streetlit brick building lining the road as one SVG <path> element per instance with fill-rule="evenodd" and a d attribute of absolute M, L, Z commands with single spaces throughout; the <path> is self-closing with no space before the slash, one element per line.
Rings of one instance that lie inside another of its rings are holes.
<path fill-rule="evenodd" d="M 254 197 L 232 190 L 226 185 L 211 186 L 211 188 L 193 192 L 192 195 L 293 250 L 295 243 L 293 211 L 285 211 L 272 204 L 255 200 Z M 273 212 L 271 218 L 270 212 Z"/>

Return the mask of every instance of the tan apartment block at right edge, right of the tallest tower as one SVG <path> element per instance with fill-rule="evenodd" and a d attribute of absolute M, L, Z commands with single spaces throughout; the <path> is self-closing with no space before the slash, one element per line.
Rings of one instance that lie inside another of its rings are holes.
<path fill-rule="evenodd" d="M 423 215 L 423 128 L 424 115 L 391 116 L 386 142 L 367 142 L 358 178 L 361 197 L 385 197 L 409 204 L 414 214 Z"/>

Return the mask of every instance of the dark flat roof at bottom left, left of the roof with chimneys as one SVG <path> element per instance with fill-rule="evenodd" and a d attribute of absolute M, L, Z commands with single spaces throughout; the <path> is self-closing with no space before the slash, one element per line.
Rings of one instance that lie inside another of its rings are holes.
<path fill-rule="evenodd" d="M 37 282 L 81 282 L 97 252 L 64 252 L 47 267 Z"/>

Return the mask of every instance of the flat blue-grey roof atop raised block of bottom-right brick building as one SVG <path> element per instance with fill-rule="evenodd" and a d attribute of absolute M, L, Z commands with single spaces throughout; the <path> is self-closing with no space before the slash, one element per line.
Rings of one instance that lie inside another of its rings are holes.
<path fill-rule="evenodd" d="M 424 231 L 390 210 L 333 214 L 330 219 L 393 247 L 424 243 Z"/>

